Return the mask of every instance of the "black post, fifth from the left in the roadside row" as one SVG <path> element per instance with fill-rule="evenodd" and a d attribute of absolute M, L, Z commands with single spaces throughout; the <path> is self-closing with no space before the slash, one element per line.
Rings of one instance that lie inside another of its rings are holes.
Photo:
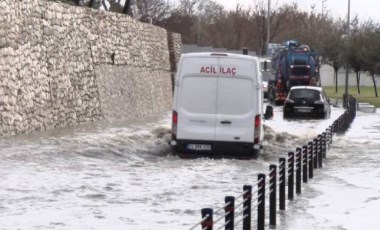
<path fill-rule="evenodd" d="M 269 225 L 276 226 L 277 165 L 270 165 L 269 172 Z"/>

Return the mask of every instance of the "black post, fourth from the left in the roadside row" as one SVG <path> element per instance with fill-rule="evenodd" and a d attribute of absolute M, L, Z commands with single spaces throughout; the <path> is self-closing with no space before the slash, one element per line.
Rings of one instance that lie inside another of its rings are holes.
<path fill-rule="evenodd" d="M 260 173 L 258 175 L 258 191 L 257 191 L 257 230 L 264 230 L 265 229 L 265 174 Z M 251 221 L 251 218 L 249 219 Z M 243 227 L 243 230 L 251 230 L 245 229 Z"/>

